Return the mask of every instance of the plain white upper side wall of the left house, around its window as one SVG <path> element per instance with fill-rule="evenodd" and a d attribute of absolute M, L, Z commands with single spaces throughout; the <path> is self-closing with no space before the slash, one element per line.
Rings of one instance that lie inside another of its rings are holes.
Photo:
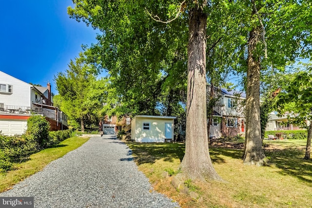
<path fill-rule="evenodd" d="M 13 86 L 12 94 L 0 93 L 0 103 L 4 105 L 31 106 L 30 89 L 31 85 L 13 76 L 9 76 L 0 71 L 0 83 Z"/>

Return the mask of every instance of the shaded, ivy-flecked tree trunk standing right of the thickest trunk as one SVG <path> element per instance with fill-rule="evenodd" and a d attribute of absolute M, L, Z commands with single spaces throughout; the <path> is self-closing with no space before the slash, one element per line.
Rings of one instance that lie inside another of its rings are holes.
<path fill-rule="evenodd" d="M 249 165 L 265 165 L 266 156 L 262 149 L 260 125 L 260 57 L 256 45 L 261 41 L 261 28 L 254 28 L 249 34 L 247 98 L 246 98 L 246 139 L 243 160 Z"/>

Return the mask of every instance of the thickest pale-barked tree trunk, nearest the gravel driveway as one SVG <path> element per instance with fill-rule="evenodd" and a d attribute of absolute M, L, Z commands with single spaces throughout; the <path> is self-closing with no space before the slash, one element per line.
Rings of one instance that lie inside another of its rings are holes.
<path fill-rule="evenodd" d="M 221 180 L 209 155 L 206 109 L 206 25 L 202 5 L 189 16 L 188 83 L 186 105 L 185 155 L 181 170 L 190 179 Z"/>

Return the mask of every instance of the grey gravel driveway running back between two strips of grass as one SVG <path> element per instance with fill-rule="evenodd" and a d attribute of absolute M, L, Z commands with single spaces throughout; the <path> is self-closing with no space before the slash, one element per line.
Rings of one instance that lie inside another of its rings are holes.
<path fill-rule="evenodd" d="M 0 196 L 35 197 L 35 208 L 175 208 L 111 135 L 92 137 Z"/>

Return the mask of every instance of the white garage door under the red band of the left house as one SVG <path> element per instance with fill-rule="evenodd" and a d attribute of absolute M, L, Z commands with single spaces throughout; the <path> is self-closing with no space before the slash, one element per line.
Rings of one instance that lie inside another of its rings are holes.
<path fill-rule="evenodd" d="M 27 121 L 1 120 L 0 131 L 4 135 L 15 135 L 25 133 Z"/>

